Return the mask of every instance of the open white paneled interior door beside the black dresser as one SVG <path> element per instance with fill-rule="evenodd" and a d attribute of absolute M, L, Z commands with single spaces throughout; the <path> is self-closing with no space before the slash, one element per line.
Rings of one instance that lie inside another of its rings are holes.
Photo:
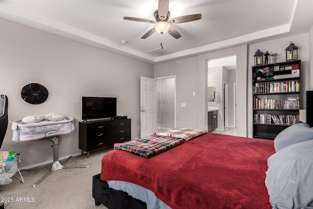
<path fill-rule="evenodd" d="M 140 137 L 157 131 L 156 79 L 140 77 Z"/>

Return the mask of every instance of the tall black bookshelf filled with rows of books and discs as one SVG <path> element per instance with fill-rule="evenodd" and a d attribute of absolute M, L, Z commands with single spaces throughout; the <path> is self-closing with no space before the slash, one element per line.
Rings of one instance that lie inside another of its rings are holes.
<path fill-rule="evenodd" d="M 298 123 L 301 60 L 252 67 L 253 138 L 275 139 Z"/>

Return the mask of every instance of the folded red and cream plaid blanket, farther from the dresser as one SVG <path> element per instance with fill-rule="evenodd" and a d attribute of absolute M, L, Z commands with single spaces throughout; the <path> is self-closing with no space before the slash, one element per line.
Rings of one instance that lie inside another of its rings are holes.
<path fill-rule="evenodd" d="M 167 131 L 156 132 L 154 133 L 154 135 L 181 138 L 188 141 L 205 133 L 206 130 L 196 130 L 192 128 L 174 128 Z"/>

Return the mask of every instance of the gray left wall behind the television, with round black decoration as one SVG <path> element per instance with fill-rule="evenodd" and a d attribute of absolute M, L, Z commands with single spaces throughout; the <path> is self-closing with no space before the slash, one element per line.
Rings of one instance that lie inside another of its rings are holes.
<path fill-rule="evenodd" d="M 81 152 L 81 97 L 112 96 L 117 114 L 132 118 L 132 138 L 139 136 L 140 76 L 153 78 L 153 65 L 4 19 L 0 27 L 0 93 L 8 96 L 10 121 L 50 112 L 74 117 L 75 131 L 59 138 L 59 155 L 75 155 Z M 48 99 L 38 105 L 24 102 L 20 93 L 28 83 L 44 85 Z M 50 141 L 12 141 L 10 126 L 1 150 L 20 152 L 20 167 L 52 160 Z"/>

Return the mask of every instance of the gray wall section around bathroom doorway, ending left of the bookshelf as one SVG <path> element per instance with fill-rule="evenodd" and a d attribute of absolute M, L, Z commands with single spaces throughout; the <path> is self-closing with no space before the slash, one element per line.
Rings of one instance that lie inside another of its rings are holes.
<path fill-rule="evenodd" d="M 207 83 L 209 59 L 237 55 L 237 71 L 243 76 L 237 77 L 239 106 L 239 136 L 246 136 L 246 83 L 247 83 L 247 46 L 236 46 L 214 52 L 201 54 L 197 57 L 171 61 L 155 65 L 155 77 L 176 75 L 177 79 L 177 127 L 193 127 L 207 129 Z M 195 92 L 195 96 L 193 96 Z M 180 107 L 186 103 L 186 107 Z"/>

